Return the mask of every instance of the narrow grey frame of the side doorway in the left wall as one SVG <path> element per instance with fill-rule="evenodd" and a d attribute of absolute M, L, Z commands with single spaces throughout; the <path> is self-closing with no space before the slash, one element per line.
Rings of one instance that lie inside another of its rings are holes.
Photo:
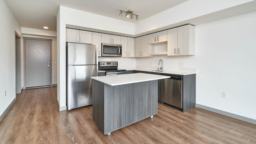
<path fill-rule="evenodd" d="M 17 72 L 18 73 L 18 79 L 20 79 L 20 84 L 19 84 L 19 90 L 18 93 L 21 93 L 21 36 L 19 35 L 19 33 L 17 33 L 17 31 L 14 31 L 14 37 L 15 37 L 15 100 L 16 100 L 16 94 L 17 94 L 17 78 L 16 78 L 16 75 L 17 75 Z M 16 45 L 16 39 L 17 37 L 19 37 L 19 45 L 18 45 L 18 48 L 17 48 L 17 45 Z M 17 57 L 17 53 L 19 54 L 19 56 Z M 18 70 L 16 69 L 16 65 L 17 65 L 17 61 L 18 61 Z"/>

